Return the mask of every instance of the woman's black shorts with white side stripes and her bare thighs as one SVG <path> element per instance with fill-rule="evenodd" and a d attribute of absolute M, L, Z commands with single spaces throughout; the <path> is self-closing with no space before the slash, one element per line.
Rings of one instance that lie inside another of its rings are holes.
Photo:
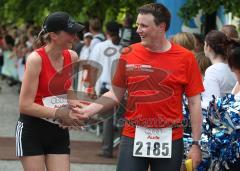
<path fill-rule="evenodd" d="M 16 155 L 25 171 L 69 171 L 68 130 L 21 115 L 16 127 Z"/>

